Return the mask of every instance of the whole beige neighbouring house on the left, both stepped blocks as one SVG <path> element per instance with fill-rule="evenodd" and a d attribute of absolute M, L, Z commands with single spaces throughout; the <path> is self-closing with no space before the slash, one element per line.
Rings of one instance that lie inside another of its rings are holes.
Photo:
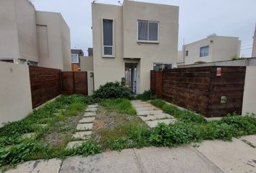
<path fill-rule="evenodd" d="M 0 1 L 0 61 L 71 70 L 69 27 L 28 0 Z"/>

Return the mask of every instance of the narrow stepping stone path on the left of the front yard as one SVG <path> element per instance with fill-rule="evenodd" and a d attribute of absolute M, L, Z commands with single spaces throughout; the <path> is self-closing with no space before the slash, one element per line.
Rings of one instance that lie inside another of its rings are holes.
<path fill-rule="evenodd" d="M 71 141 L 67 144 L 67 149 L 82 146 L 82 143 L 90 138 L 93 130 L 93 123 L 97 115 L 98 104 L 89 105 L 85 110 L 85 114 L 77 125 L 77 132 L 74 133 L 73 138 L 77 141 Z"/>

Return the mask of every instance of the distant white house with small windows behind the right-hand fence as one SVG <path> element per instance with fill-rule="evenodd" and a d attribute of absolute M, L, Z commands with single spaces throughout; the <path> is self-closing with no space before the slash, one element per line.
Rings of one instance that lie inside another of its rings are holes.
<path fill-rule="evenodd" d="M 209 35 L 183 46 L 182 56 L 179 64 L 209 63 L 216 61 L 227 61 L 240 56 L 241 41 L 238 37 L 223 37 Z"/>

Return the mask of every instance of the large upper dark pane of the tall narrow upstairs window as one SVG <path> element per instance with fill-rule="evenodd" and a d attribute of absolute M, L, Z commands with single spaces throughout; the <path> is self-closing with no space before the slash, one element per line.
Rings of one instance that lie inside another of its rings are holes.
<path fill-rule="evenodd" d="M 103 19 L 103 43 L 113 45 L 113 20 Z"/>

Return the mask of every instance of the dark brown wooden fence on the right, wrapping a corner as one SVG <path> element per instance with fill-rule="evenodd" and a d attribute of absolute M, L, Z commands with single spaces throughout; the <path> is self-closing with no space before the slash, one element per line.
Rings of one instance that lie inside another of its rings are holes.
<path fill-rule="evenodd" d="M 158 73 L 162 73 L 162 78 Z M 158 97 L 206 117 L 222 117 L 233 112 L 240 114 L 245 73 L 246 67 L 241 66 L 151 71 L 151 89 Z"/>

